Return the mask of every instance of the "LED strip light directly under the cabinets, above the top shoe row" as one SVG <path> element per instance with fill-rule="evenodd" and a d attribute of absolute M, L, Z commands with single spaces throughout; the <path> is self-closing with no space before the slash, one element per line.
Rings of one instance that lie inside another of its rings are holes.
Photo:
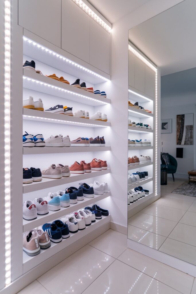
<path fill-rule="evenodd" d="M 58 53 L 56 53 L 56 52 L 54 52 L 54 51 L 52 51 L 52 50 L 50 50 L 50 49 L 48 49 L 46 47 L 34 42 L 34 41 L 32 41 L 29 38 L 26 38 L 25 36 L 23 36 L 23 40 L 28 42 L 29 44 L 32 44 L 33 46 L 36 46 L 36 47 L 40 48 L 41 50 L 47 52 L 50 55 L 56 56 L 57 58 L 61 59 L 64 62 L 68 62 L 69 64 L 72 64 L 73 66 L 78 67 L 78 68 L 82 69 L 83 71 L 88 72 L 89 74 L 92 74 L 93 76 L 97 76 L 98 78 L 101 78 L 104 81 L 110 81 L 108 78 L 105 78 L 104 76 L 100 76 L 99 74 L 95 73 L 94 71 L 91 71 L 90 69 L 87 69 L 86 67 L 81 66 L 80 64 L 78 64 L 78 63 L 76 63 L 76 62 L 62 56 L 61 54 L 58 54 Z"/>

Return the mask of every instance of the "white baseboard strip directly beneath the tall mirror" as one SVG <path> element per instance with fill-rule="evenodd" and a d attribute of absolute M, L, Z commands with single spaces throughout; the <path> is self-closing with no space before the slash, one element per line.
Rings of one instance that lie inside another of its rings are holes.
<path fill-rule="evenodd" d="M 195 265 L 193 264 L 187 263 L 186 261 L 180 260 L 176 257 L 173 257 L 171 255 L 158 251 L 154 248 L 150 248 L 146 245 L 140 244 L 130 239 L 128 239 L 127 245 L 128 245 L 128 248 L 132 250 L 135 250 L 150 258 L 158 260 L 161 263 L 165 263 L 171 266 L 172 268 L 176 268 L 177 270 L 180 270 L 183 273 L 187 273 L 188 275 L 196 277 Z"/>

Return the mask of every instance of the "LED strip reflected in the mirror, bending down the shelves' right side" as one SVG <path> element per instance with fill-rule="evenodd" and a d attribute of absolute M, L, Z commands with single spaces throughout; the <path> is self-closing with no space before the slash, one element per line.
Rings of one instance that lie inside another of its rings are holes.
<path fill-rule="evenodd" d="M 157 195 L 157 162 L 158 162 L 158 101 L 157 101 L 157 68 L 153 66 L 147 59 L 145 59 L 138 51 L 136 51 L 132 46 L 128 45 L 128 49 L 130 52 L 132 52 L 136 57 L 138 57 L 143 63 L 145 63 L 150 69 L 152 69 L 155 72 L 155 195 Z M 146 98 L 146 97 L 143 97 Z M 130 110 L 129 110 L 130 111 Z M 132 111 L 134 112 L 134 111 Z"/>

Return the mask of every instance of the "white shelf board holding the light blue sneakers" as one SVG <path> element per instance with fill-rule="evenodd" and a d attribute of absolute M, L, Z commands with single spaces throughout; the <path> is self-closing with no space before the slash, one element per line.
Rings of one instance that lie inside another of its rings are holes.
<path fill-rule="evenodd" d="M 49 213 L 44 216 L 37 215 L 37 218 L 35 220 L 23 219 L 23 232 L 27 232 L 29 230 L 32 230 L 33 228 L 43 225 L 44 223 L 48 223 L 55 219 L 59 219 L 83 207 L 86 207 L 89 205 L 92 206 L 97 201 L 105 199 L 109 196 L 110 196 L 110 192 L 104 193 L 103 195 L 95 195 L 95 197 L 93 198 L 84 197 L 84 200 L 78 201 L 76 204 L 70 204 L 69 207 L 61 207 L 61 210 L 58 210 L 58 211 L 49 210 Z"/>

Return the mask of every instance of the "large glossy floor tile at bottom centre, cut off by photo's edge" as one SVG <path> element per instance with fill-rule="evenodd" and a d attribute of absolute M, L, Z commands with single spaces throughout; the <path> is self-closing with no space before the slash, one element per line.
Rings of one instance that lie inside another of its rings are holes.
<path fill-rule="evenodd" d="M 143 268 L 145 273 L 145 267 Z M 158 282 L 155 278 L 151 278 L 134 268 L 115 260 L 109 268 L 105 270 L 93 282 L 83 294 L 179 294 L 180 292 Z"/>

